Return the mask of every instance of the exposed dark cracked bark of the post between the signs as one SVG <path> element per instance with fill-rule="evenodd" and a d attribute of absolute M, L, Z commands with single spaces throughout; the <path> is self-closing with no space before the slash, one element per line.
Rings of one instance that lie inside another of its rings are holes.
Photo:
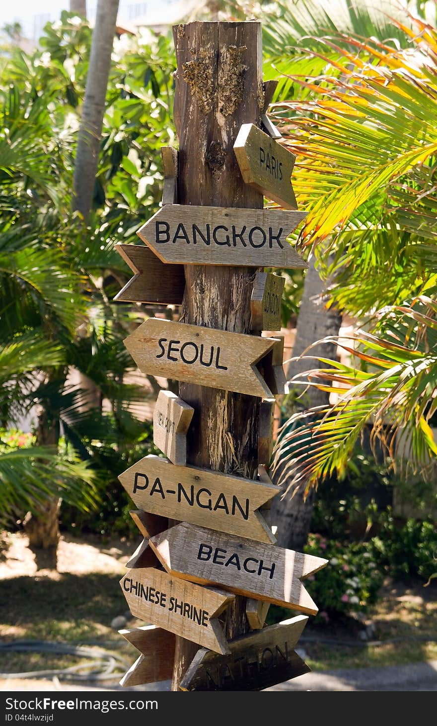
<path fill-rule="evenodd" d="M 233 152 L 242 123 L 259 126 L 263 107 L 261 25 L 189 23 L 173 28 L 178 70 L 175 123 L 180 152 L 180 204 L 262 208 L 259 192 L 244 184 Z M 187 265 L 181 320 L 250 333 L 250 298 L 256 269 Z M 194 408 L 188 462 L 256 476 L 259 399 L 180 384 Z M 225 613 L 229 638 L 246 632 L 246 600 Z M 199 648 L 177 638 L 172 689 Z"/>

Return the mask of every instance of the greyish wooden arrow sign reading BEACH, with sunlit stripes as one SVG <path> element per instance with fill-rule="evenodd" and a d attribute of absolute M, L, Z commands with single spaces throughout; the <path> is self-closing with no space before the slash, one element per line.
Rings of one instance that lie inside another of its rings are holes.
<path fill-rule="evenodd" d="M 190 582 L 214 584 L 308 615 L 317 613 L 300 581 L 328 560 L 185 522 L 152 537 L 150 545 L 167 572 Z"/>

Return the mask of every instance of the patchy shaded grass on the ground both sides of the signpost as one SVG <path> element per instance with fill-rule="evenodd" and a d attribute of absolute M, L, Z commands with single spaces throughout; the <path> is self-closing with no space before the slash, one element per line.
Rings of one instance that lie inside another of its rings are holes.
<path fill-rule="evenodd" d="M 74 550 L 75 555 L 76 552 Z M 116 571 L 64 572 L 41 576 L 38 573 L 36 576 L 18 575 L 1 580 L 1 640 L 92 643 L 104 647 L 108 653 L 114 650 L 132 664 L 138 657 L 138 651 L 111 627 L 112 619 L 128 609 L 120 589 L 120 574 L 124 568 L 117 560 L 114 561 Z M 289 611 L 287 616 L 293 614 Z M 394 644 L 383 642 L 380 645 L 373 645 L 370 641 L 365 647 L 347 647 L 336 641 L 352 640 L 359 643 L 357 628 L 332 621 L 328 625 L 315 626 L 310 618 L 304 637 L 329 638 L 333 642 L 300 643 L 298 647 L 306 651 L 308 665 L 315 671 L 322 671 L 437 659 L 437 643 L 408 640 L 429 635 L 437 640 L 436 581 L 424 588 L 423 582 L 406 586 L 387 580 L 370 618 L 375 625 L 378 641 L 393 638 L 405 640 Z M 283 616 L 276 621 L 281 619 Z M 132 619 L 128 627 L 142 624 Z M 78 663 L 89 666 L 91 661 L 70 655 L 2 653 L 0 650 L 1 673 L 63 669 Z M 120 669 L 118 672 L 121 673 Z M 115 678 L 115 682 L 117 680 L 119 678 Z"/>

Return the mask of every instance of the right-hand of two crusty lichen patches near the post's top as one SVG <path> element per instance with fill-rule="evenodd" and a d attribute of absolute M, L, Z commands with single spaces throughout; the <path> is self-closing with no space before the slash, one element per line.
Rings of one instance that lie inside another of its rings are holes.
<path fill-rule="evenodd" d="M 220 49 L 218 70 L 218 107 L 224 116 L 236 112 L 243 99 L 244 65 L 242 57 L 246 46 L 223 46 Z"/>

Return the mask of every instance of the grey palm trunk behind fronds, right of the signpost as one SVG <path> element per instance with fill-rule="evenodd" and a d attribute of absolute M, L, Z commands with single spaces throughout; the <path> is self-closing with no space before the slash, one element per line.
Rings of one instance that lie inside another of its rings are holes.
<path fill-rule="evenodd" d="M 293 348 L 293 357 L 301 355 L 308 346 L 328 335 L 338 335 L 341 326 L 341 315 L 335 308 L 327 309 L 324 305 L 326 282 L 320 279 L 315 267 L 314 257 L 309 263 L 305 275 L 304 293 L 302 295 L 299 317 L 296 327 L 296 339 Z M 315 346 L 308 355 L 320 355 L 323 358 L 336 359 L 335 343 Z M 317 367 L 317 360 L 292 361 L 288 366 L 287 378 L 299 374 L 304 378 L 307 370 Z M 298 393 L 301 393 L 299 387 Z M 318 388 L 309 388 L 304 394 L 304 407 L 323 406 L 328 404 L 329 396 Z M 303 407 L 302 407 L 303 408 Z M 312 507 L 315 502 L 315 489 L 311 489 L 304 498 L 303 489 L 299 489 L 294 497 L 288 493 L 284 499 L 275 497 L 272 500 L 272 521 L 278 526 L 278 545 L 291 550 L 301 550 L 307 542 L 309 526 L 311 523 Z"/>

